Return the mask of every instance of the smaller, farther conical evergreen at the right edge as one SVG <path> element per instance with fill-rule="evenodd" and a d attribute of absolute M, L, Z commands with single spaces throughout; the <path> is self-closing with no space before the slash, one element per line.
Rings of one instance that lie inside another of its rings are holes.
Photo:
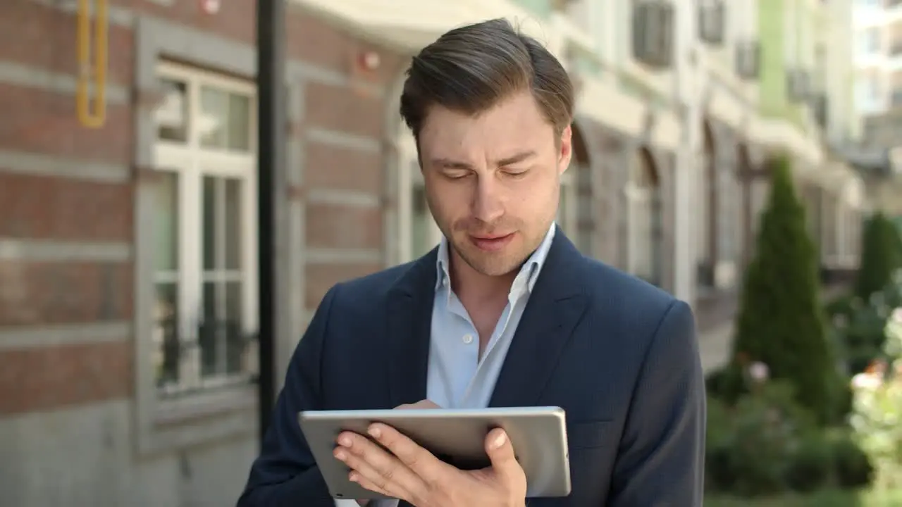
<path fill-rule="evenodd" d="M 861 235 L 861 266 L 855 281 L 855 295 L 870 300 L 883 290 L 894 272 L 902 268 L 902 238 L 897 226 L 882 213 L 864 224 Z"/>

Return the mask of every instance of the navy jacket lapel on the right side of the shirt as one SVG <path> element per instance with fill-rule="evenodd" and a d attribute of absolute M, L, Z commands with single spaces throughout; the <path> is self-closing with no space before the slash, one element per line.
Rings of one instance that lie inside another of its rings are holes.
<path fill-rule="evenodd" d="M 490 407 L 529 407 L 542 394 L 582 318 L 584 257 L 557 230 L 495 383 Z"/>

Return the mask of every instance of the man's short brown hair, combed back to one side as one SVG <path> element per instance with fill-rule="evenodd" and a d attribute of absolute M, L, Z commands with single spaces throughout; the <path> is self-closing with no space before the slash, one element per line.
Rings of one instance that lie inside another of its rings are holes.
<path fill-rule="evenodd" d="M 560 135 L 573 120 L 574 89 L 561 63 L 505 19 L 446 32 L 415 56 L 400 96 L 400 115 L 419 140 L 430 106 L 478 115 L 529 91 Z"/>

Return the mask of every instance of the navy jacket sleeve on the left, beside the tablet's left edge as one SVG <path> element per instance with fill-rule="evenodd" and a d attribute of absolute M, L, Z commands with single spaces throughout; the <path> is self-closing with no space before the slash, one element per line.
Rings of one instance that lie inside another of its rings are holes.
<path fill-rule="evenodd" d="M 323 405 L 321 356 L 337 290 L 336 285 L 327 292 L 291 357 L 272 424 L 263 438 L 260 456 L 251 466 L 238 507 L 335 505 L 300 430 L 298 412 L 318 410 Z"/>

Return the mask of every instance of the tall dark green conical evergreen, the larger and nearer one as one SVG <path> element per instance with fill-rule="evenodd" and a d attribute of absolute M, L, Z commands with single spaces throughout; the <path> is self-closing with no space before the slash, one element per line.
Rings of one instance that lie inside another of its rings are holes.
<path fill-rule="evenodd" d="M 797 400 L 826 420 L 838 372 L 819 301 L 817 252 L 787 161 L 770 165 L 769 206 L 745 273 L 733 356 L 768 364 L 775 379 L 791 383 Z"/>

